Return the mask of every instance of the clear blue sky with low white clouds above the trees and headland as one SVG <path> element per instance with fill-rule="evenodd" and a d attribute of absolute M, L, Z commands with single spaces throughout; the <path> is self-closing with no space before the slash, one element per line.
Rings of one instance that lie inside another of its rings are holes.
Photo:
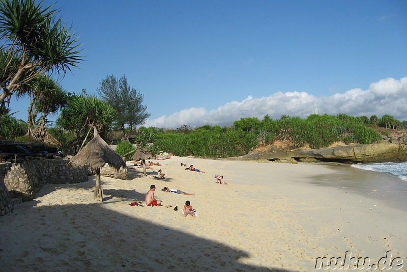
<path fill-rule="evenodd" d="M 85 56 L 63 88 L 97 94 L 108 74 L 124 74 L 144 95 L 146 126 L 314 112 L 407 120 L 405 0 L 60 0 L 55 7 Z M 12 98 L 10 107 L 26 120 L 27 99 Z"/>

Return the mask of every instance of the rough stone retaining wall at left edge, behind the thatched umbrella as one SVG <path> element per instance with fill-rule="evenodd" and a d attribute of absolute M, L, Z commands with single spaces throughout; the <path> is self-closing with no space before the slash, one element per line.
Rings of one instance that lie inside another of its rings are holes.
<path fill-rule="evenodd" d="M 44 184 L 88 181 L 85 168 L 67 167 L 69 160 L 38 159 L 0 165 L 0 214 L 13 209 L 11 198 L 33 199 Z M 6 189 L 4 189 L 6 188 Z"/>

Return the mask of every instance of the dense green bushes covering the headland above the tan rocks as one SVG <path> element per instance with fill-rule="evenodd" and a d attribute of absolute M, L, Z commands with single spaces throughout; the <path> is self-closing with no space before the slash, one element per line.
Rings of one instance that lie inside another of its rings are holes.
<path fill-rule="evenodd" d="M 241 118 L 230 127 L 202 126 L 191 129 L 184 125 L 176 130 L 159 133 L 157 148 L 177 156 L 231 157 L 247 154 L 253 148 L 288 141 L 296 147 L 324 148 L 335 142 L 371 144 L 382 139 L 376 130 L 400 128 L 401 122 L 392 116 L 382 119 L 353 117 L 345 114 L 310 115 L 306 119 L 282 116 L 273 120 L 266 115 Z"/>

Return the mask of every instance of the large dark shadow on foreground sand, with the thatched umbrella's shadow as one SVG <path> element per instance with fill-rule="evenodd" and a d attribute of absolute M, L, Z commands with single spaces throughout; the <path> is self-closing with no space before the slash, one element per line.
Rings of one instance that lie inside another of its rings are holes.
<path fill-rule="evenodd" d="M 143 194 L 132 190 L 108 189 L 105 194 L 124 198 L 123 201 L 144 200 Z M 112 202 L 55 206 L 36 206 L 36 201 L 25 202 L 24 206 L 2 218 L 2 224 L 11 222 L 10 228 L 18 227 L 19 230 L 18 235 L 8 236 L 7 244 L 2 246 L 0 257 L 3 251 L 13 252 L 12 260 L 0 258 L 2 269 L 290 271 L 244 264 L 239 260 L 249 257 L 245 251 L 112 211 L 107 204 L 112 205 Z M 17 223 L 13 216 L 18 216 L 20 212 L 22 214 Z M 41 227 L 32 228 L 31 222 L 24 219 L 24 213 L 35 216 L 35 222 L 40 222 Z M 32 242 L 32 248 L 19 248 L 19 241 L 23 239 L 38 239 L 38 243 Z M 37 252 L 41 254 L 36 258 L 24 258 L 27 254 Z M 35 263 L 28 263 L 27 260 L 35 260 Z"/>

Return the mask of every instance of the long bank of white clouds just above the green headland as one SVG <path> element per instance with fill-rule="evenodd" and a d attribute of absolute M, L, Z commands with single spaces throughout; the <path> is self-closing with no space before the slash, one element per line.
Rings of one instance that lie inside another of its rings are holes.
<path fill-rule="evenodd" d="M 228 125 L 240 118 L 266 114 L 273 119 L 281 115 L 305 118 L 313 114 L 339 113 L 352 116 L 389 114 L 399 120 L 407 120 L 407 77 L 381 79 L 370 84 L 368 90 L 351 89 L 331 96 L 315 97 L 306 92 L 277 92 L 267 97 L 248 96 L 242 101 L 231 101 L 208 112 L 205 108 L 188 108 L 170 116 L 148 120 L 144 126 L 177 128 L 189 126 Z"/>

